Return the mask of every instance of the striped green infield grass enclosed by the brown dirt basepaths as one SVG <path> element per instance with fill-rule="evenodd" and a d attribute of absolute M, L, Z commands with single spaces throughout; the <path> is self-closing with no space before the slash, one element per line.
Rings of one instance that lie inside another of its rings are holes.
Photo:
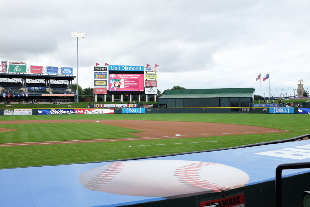
<path fill-rule="evenodd" d="M 99 123 L 0 124 L 0 127 L 18 129 L 1 132 L 0 143 L 132 138 L 138 136 L 129 133 L 141 132 Z"/>

